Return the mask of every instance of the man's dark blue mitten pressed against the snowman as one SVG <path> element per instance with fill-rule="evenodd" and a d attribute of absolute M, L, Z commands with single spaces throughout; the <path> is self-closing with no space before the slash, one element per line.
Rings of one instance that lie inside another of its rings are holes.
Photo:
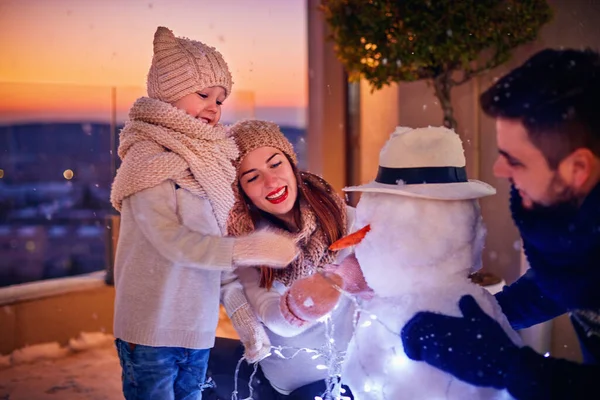
<path fill-rule="evenodd" d="M 463 317 L 419 312 L 408 321 L 400 333 L 406 355 L 475 386 L 506 388 L 519 348 L 472 296 L 458 306 Z"/>

